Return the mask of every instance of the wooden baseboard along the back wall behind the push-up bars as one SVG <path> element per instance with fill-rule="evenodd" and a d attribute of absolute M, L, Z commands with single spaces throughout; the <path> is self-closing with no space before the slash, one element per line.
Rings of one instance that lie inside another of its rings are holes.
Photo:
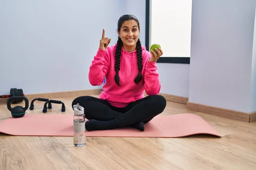
<path fill-rule="evenodd" d="M 35 98 L 46 98 L 46 99 L 56 99 L 62 97 L 76 97 L 76 96 L 88 96 L 100 94 L 102 89 L 93 90 L 81 90 L 81 91 L 63 91 L 63 92 L 53 92 L 53 93 L 41 93 L 41 94 L 25 94 L 26 98 L 31 101 Z M 1 98 L 0 103 L 6 103 L 8 98 Z"/>

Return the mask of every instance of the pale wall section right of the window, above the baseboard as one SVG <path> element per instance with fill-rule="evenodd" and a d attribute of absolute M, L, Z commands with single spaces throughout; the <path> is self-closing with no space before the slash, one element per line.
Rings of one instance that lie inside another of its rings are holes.
<path fill-rule="evenodd" d="M 189 102 L 252 111 L 255 5 L 256 0 L 193 0 Z"/>

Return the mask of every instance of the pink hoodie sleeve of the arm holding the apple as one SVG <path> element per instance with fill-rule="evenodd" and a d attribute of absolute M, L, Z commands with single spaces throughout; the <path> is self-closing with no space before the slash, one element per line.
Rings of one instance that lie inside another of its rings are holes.
<path fill-rule="evenodd" d="M 147 95 L 157 95 L 160 92 L 160 80 L 157 72 L 156 62 L 148 60 L 144 71 L 144 88 Z"/>

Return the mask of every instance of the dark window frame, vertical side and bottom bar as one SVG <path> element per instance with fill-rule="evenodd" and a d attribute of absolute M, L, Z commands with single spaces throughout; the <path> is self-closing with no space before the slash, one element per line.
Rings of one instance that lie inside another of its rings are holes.
<path fill-rule="evenodd" d="M 145 47 L 149 51 L 150 45 L 150 22 L 151 22 L 151 0 L 146 0 L 146 14 L 145 14 Z M 176 63 L 176 64 L 190 64 L 190 57 L 160 57 L 159 63 Z"/>

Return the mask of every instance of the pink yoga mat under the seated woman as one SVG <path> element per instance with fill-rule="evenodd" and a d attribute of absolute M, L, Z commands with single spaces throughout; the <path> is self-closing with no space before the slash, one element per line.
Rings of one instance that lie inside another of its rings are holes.
<path fill-rule="evenodd" d="M 73 115 L 26 114 L 0 122 L 0 132 L 15 136 L 73 136 Z M 221 137 L 200 116 L 191 113 L 156 116 L 145 124 L 145 130 L 133 127 L 113 130 L 86 131 L 86 136 L 104 137 L 183 137 L 194 134 L 210 134 Z"/>

